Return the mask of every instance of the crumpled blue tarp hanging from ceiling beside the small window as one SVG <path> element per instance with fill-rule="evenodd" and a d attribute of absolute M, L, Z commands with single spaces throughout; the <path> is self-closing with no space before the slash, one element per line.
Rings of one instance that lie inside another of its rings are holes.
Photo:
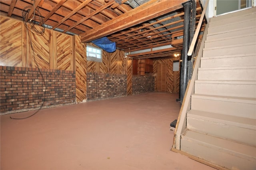
<path fill-rule="evenodd" d="M 92 41 L 96 46 L 102 48 L 106 52 L 116 51 L 116 43 L 108 40 L 106 37 L 99 38 Z"/>

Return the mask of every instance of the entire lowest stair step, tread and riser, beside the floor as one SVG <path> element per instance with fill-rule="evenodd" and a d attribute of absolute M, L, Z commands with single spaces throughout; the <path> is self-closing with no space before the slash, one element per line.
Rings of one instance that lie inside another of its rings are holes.
<path fill-rule="evenodd" d="M 255 170 L 256 148 L 230 140 L 186 130 L 181 150 L 231 170 Z"/>

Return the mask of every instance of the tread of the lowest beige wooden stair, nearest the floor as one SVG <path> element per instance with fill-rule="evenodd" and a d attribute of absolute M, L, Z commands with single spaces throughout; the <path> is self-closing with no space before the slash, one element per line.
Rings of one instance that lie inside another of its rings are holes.
<path fill-rule="evenodd" d="M 230 154 L 236 152 L 238 154 L 247 156 L 249 159 L 251 158 L 251 160 L 255 160 L 256 158 L 256 147 L 249 146 L 246 144 L 225 140 L 222 138 L 202 134 L 200 132 L 195 132 L 192 130 L 186 130 L 186 132 L 182 134 L 182 138 L 193 139 L 200 143 L 211 145 L 217 150 L 222 150 Z"/>

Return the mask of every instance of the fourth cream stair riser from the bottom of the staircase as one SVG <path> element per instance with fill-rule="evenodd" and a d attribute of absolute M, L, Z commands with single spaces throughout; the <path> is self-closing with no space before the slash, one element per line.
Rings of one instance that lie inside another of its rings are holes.
<path fill-rule="evenodd" d="M 256 81 L 196 80 L 195 94 L 256 98 Z"/>

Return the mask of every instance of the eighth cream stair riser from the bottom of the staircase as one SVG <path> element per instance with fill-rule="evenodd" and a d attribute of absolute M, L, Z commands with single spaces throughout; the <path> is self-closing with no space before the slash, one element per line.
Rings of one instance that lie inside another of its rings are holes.
<path fill-rule="evenodd" d="M 245 43 L 255 42 L 255 40 L 256 40 L 256 35 L 243 36 L 243 37 L 232 38 L 232 39 L 205 42 L 204 48 L 221 47 L 221 46 L 226 46 L 227 44 L 228 45 L 245 44 Z"/>

